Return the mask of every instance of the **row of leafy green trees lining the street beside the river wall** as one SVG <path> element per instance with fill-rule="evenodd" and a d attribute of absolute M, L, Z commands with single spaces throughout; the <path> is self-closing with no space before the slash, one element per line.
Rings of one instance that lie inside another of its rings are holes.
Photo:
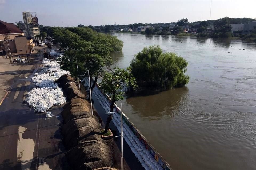
<path fill-rule="evenodd" d="M 123 99 L 124 86 L 129 89 L 137 87 L 130 68 L 126 70 L 118 67 L 111 69 L 113 61 L 110 53 L 120 52 L 123 48 L 123 42 L 117 37 L 98 33 L 81 25 L 69 28 L 47 27 L 45 30 L 52 36 L 55 44 L 60 44 L 62 48 L 66 49 L 63 56 L 58 58 L 62 69 L 70 71 L 74 77 L 79 77 L 89 70 L 91 93 L 98 78 L 101 78 L 100 88 L 111 97 L 111 112 L 113 112 L 115 102 Z M 78 69 L 75 61 L 77 61 Z M 94 82 L 92 83 L 93 77 Z M 111 120 L 112 114 L 107 118 L 104 133 L 107 133 Z"/>

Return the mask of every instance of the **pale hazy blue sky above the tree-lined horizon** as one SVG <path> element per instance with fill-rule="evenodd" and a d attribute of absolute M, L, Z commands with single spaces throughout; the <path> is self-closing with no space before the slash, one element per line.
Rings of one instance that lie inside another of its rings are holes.
<path fill-rule="evenodd" d="M 210 19 L 210 0 L 180 1 L 78 1 L 0 0 L 0 20 L 23 21 L 22 12 L 37 12 L 46 26 L 166 23 L 188 18 L 189 22 Z M 256 0 L 212 1 L 211 19 L 256 18 Z"/>

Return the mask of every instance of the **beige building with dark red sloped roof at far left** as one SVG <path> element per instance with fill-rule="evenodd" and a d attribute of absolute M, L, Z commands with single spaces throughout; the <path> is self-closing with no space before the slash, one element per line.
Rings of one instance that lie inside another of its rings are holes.
<path fill-rule="evenodd" d="M 31 38 L 27 39 L 18 27 L 14 24 L 0 21 L 0 47 L 2 51 L 12 55 L 29 54 L 34 51 L 35 44 Z"/>

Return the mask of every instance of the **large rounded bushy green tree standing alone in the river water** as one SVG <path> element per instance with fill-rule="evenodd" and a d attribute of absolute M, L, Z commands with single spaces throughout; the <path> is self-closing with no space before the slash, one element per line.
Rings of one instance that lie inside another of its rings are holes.
<path fill-rule="evenodd" d="M 163 52 L 159 46 L 145 47 L 130 62 L 131 73 L 141 86 L 172 88 L 185 86 L 188 63 L 175 53 Z M 145 84 L 146 83 L 146 84 Z"/>

